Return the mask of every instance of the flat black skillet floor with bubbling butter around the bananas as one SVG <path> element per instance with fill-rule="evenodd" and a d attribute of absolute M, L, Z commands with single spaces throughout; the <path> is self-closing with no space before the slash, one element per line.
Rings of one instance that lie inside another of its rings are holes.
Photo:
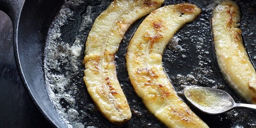
<path fill-rule="evenodd" d="M 165 127 L 144 107 L 133 91 L 125 68 L 124 54 L 132 34 L 143 18 L 127 31 L 116 53 L 116 71 L 120 85 L 129 102 L 132 118 L 123 125 L 109 123 L 94 106 L 83 81 L 84 42 L 95 18 L 112 0 L 68 0 L 53 20 L 45 41 L 44 77 L 46 88 L 54 108 L 63 123 L 74 128 L 94 127 Z M 228 92 L 236 102 L 245 103 L 230 89 L 223 79 L 216 62 L 212 45 L 210 19 L 212 10 L 220 2 L 215 0 L 165 0 L 164 5 L 194 3 L 202 13 L 193 22 L 181 28 L 167 46 L 163 55 L 166 74 L 174 89 L 184 100 L 183 89 L 187 86 L 212 87 Z M 237 0 L 242 13 L 241 29 L 245 46 L 253 63 L 255 52 L 255 1 Z M 185 101 L 185 100 L 184 100 Z M 255 128 L 256 113 L 236 109 L 221 115 L 206 115 L 191 108 L 211 128 Z"/>

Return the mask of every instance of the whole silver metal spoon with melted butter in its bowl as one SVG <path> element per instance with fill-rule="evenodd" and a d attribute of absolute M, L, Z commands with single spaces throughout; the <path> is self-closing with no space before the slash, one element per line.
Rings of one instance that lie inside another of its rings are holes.
<path fill-rule="evenodd" d="M 227 92 L 219 89 L 207 87 L 186 88 L 184 95 L 192 105 L 207 114 L 218 115 L 234 108 L 256 110 L 256 105 L 236 103 Z"/>

